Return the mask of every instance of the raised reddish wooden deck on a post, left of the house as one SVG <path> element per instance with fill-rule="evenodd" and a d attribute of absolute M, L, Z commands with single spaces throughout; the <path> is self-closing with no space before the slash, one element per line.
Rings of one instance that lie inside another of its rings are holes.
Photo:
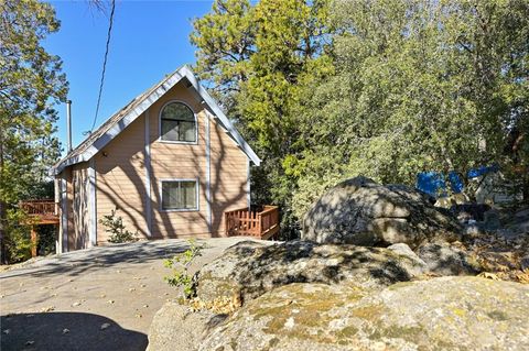
<path fill-rule="evenodd" d="M 19 208 L 29 216 L 32 241 L 31 255 L 35 257 L 36 245 L 39 243 L 35 227 L 41 224 L 58 226 L 58 204 L 51 199 L 29 200 L 20 202 Z"/>

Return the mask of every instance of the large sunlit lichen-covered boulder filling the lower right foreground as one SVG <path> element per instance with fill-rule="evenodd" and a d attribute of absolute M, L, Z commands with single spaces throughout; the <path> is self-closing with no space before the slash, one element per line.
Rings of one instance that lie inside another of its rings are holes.
<path fill-rule="evenodd" d="M 251 300 L 198 350 L 529 350 L 529 286 L 478 277 L 291 284 Z"/>

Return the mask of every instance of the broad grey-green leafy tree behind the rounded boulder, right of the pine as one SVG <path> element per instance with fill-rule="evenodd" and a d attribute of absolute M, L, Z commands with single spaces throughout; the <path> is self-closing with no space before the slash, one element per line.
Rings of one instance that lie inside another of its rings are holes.
<path fill-rule="evenodd" d="M 337 1 L 335 74 L 300 99 L 304 147 L 283 163 L 294 213 L 360 174 L 413 185 L 425 169 L 512 162 L 527 174 L 527 150 L 505 146 L 528 138 L 528 13 L 519 0 Z"/>

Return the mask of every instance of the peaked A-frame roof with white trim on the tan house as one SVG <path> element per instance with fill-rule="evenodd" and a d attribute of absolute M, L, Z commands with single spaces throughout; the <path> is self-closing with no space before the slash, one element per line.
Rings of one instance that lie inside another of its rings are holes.
<path fill-rule="evenodd" d="M 226 129 L 228 135 L 237 143 L 248 158 L 251 160 L 255 165 L 259 166 L 261 160 L 257 156 L 253 150 L 251 150 L 250 145 L 248 145 L 242 136 L 240 136 L 239 132 L 235 129 L 226 114 L 224 114 L 215 99 L 212 98 L 206 89 L 198 83 L 198 79 L 191 68 L 187 65 L 184 65 L 110 117 L 77 147 L 72 150 L 72 152 L 69 152 L 63 160 L 55 164 L 52 168 L 52 174 L 56 175 L 67 166 L 90 160 L 98 151 L 105 147 L 114 138 L 116 138 L 182 79 L 187 79 L 190 85 L 188 88 L 193 89 L 197 97 L 202 99 L 206 110 L 224 129 Z"/>

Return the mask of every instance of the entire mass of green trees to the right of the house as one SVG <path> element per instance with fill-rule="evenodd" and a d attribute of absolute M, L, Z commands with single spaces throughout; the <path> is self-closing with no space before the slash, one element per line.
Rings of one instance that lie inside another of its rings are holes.
<path fill-rule="evenodd" d="M 197 73 L 263 158 L 252 198 L 281 207 L 288 239 L 327 187 L 359 174 L 412 185 L 422 171 L 499 164 L 529 194 L 528 7 L 217 0 L 191 40 Z"/>

